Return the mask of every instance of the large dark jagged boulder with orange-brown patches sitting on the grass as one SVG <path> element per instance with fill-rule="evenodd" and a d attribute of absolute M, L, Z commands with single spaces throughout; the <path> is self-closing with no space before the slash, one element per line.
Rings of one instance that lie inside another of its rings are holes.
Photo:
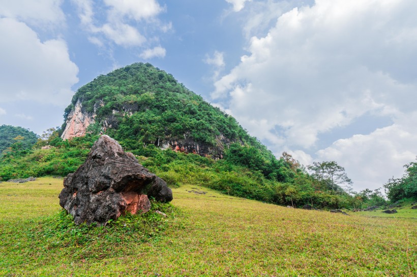
<path fill-rule="evenodd" d="M 104 224 L 127 212 L 149 211 L 150 197 L 169 202 L 172 191 L 132 153 L 124 152 L 113 138 L 103 135 L 86 161 L 64 179 L 59 204 L 74 216 L 75 224 Z"/>

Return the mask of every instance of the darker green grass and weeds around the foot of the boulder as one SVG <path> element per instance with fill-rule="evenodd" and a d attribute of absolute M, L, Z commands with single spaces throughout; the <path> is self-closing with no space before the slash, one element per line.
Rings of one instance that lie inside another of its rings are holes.
<path fill-rule="evenodd" d="M 155 213 L 161 211 L 167 215 Z M 108 258 L 126 253 L 124 247 L 103 251 L 103 246 L 139 244 L 158 240 L 169 227 L 169 221 L 179 211 L 171 204 L 151 200 L 151 211 L 144 214 L 127 214 L 117 220 L 109 220 L 104 226 L 75 225 L 72 215 L 62 209 L 57 214 L 41 220 L 26 236 L 39 242 L 43 249 L 51 251 L 65 247 L 74 258 Z M 82 249 L 81 251 L 78 251 Z"/>

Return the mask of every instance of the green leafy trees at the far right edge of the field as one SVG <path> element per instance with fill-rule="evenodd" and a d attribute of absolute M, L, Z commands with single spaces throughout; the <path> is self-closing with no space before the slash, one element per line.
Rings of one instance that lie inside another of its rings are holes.
<path fill-rule="evenodd" d="M 383 185 L 392 202 L 403 198 L 417 198 L 417 162 L 410 162 L 404 167 L 405 174 L 402 178 L 392 178 Z"/>

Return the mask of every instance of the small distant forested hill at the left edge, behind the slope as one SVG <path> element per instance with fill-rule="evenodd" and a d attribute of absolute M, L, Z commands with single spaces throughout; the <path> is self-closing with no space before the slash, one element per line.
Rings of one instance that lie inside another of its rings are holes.
<path fill-rule="evenodd" d="M 22 149 L 29 149 L 36 143 L 38 136 L 28 129 L 11 125 L 0 126 L 0 156 L 7 148 L 15 145 Z M 17 144 L 16 144 L 17 143 Z"/>

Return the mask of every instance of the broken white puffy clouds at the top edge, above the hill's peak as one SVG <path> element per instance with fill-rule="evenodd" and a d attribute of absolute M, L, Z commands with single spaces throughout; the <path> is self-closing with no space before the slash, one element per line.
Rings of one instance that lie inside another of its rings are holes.
<path fill-rule="evenodd" d="M 171 26 L 170 23 L 163 25 L 156 20 L 156 16 L 165 11 L 165 7 L 161 7 L 156 0 L 104 0 L 106 6 L 104 22 L 95 18 L 94 7 L 97 6 L 95 2 L 91 0 L 72 0 L 72 2 L 78 7 L 81 24 L 86 31 L 94 34 L 89 38 L 90 42 L 99 47 L 105 45 L 103 39 L 123 47 L 143 46 L 148 39 L 139 27 L 143 29 L 147 21 L 159 26 L 163 32 Z"/>

